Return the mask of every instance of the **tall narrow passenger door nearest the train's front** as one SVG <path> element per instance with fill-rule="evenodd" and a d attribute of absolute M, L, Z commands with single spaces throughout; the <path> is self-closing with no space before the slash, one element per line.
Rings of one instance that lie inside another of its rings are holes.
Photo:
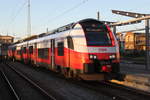
<path fill-rule="evenodd" d="M 55 67 L 55 40 L 51 40 L 51 68 Z"/>

